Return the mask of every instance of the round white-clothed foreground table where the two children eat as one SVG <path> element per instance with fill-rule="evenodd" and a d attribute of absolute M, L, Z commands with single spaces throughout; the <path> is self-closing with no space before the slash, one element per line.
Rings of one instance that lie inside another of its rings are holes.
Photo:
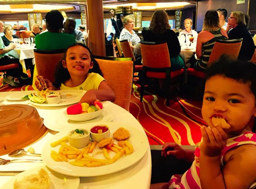
<path fill-rule="evenodd" d="M 27 104 L 31 105 L 30 101 L 7 101 L 5 97 L 7 95 L 12 94 L 20 94 L 26 95 L 33 91 L 12 91 L 12 92 L 0 92 L 0 106 L 1 105 L 11 105 L 11 104 Z M 31 105 L 33 106 L 33 105 Z M 135 117 L 132 116 L 131 113 L 123 109 L 122 107 L 109 102 L 103 102 L 104 111 L 108 111 L 108 113 L 113 114 L 113 122 L 117 122 L 120 124 L 130 125 L 139 129 L 146 136 L 142 126 L 136 120 Z M 67 106 L 58 106 L 58 107 L 40 107 L 34 106 L 39 115 L 42 118 L 49 118 L 49 116 L 54 116 L 54 111 L 63 111 L 67 108 Z M 25 147 L 27 150 L 29 147 L 33 147 L 35 149 L 35 153 L 41 153 L 44 144 L 55 135 L 57 132 L 48 129 L 47 133 L 41 137 L 35 143 Z M 20 158 L 11 158 L 8 155 L 2 155 L 0 158 L 4 159 L 41 159 L 41 157 L 34 156 L 22 156 Z M 29 169 L 33 169 L 34 167 L 44 166 L 45 164 L 42 162 L 32 162 L 32 163 L 10 163 L 8 165 L 0 165 L 0 171 L 25 171 Z M 4 185 L 5 182 L 12 179 L 14 176 L 2 176 L 0 175 L 0 188 Z M 151 181 L 151 152 L 150 145 L 148 143 L 148 149 L 146 154 L 134 165 L 128 167 L 127 169 L 106 174 L 102 176 L 95 177 L 80 177 L 79 189 L 148 189 L 150 188 Z M 4 188 L 3 188 L 4 189 Z"/>

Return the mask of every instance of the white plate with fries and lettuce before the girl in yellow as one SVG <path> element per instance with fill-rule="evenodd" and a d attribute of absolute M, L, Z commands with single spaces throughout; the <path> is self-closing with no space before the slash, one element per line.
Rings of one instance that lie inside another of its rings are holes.
<path fill-rule="evenodd" d="M 59 103 L 47 103 L 46 101 L 46 94 L 50 92 L 59 92 L 60 93 L 60 102 Z M 32 93 L 36 100 L 33 102 L 30 99 L 30 103 L 35 106 L 45 106 L 45 107 L 52 107 L 52 106 L 66 106 L 78 103 L 83 95 L 86 93 L 84 90 L 57 90 L 57 91 L 50 91 L 48 89 L 42 91 L 35 91 Z M 37 98 L 39 98 L 39 102 L 37 102 Z"/>

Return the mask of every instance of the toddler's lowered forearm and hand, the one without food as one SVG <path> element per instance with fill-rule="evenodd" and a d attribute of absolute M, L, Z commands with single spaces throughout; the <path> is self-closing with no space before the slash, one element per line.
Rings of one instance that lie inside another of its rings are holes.
<path fill-rule="evenodd" d="M 184 159 L 187 162 L 193 162 L 195 159 L 195 150 L 184 150 L 177 143 L 165 143 L 163 144 L 162 156 L 172 155 L 177 159 Z"/>

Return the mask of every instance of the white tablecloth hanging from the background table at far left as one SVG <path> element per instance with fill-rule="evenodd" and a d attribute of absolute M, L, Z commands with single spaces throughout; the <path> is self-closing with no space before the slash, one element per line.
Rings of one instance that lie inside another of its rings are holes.
<path fill-rule="evenodd" d="M 34 47 L 23 46 L 22 48 L 14 49 L 19 54 L 19 62 L 22 65 L 23 72 L 27 73 L 25 59 L 33 58 L 32 63 L 35 64 L 35 55 L 34 55 Z"/>

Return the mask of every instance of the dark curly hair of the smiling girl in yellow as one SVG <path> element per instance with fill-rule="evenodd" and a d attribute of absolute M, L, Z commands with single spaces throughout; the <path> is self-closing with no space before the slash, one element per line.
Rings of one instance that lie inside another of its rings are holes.
<path fill-rule="evenodd" d="M 101 72 L 101 69 L 99 68 L 99 64 L 97 63 L 97 61 L 92 57 L 92 53 L 91 53 L 91 50 L 84 44 L 82 43 L 77 43 L 77 44 L 74 44 L 74 45 L 71 45 L 69 46 L 66 50 L 65 50 L 65 53 L 64 53 L 64 57 L 62 60 L 66 60 L 66 57 L 67 57 L 67 50 L 73 46 L 82 46 L 84 47 L 85 49 L 87 49 L 90 53 L 90 59 L 91 61 L 93 61 L 93 68 L 92 69 L 89 69 L 89 73 L 91 72 L 94 72 L 94 73 L 98 73 L 99 75 L 103 76 L 102 72 Z M 56 87 L 60 87 L 61 86 L 61 83 L 65 83 L 66 81 L 68 81 L 70 79 L 70 74 L 68 72 L 68 69 L 67 68 L 64 68 L 63 65 L 62 65 L 62 60 L 59 61 L 59 63 L 57 64 L 57 67 L 56 67 L 56 72 L 55 72 L 55 83 L 54 83 L 54 86 Z"/>

